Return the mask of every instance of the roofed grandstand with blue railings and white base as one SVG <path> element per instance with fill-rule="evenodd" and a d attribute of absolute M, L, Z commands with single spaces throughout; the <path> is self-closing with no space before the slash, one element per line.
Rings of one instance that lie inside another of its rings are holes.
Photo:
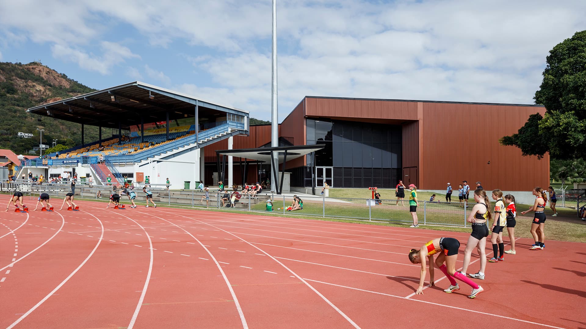
<path fill-rule="evenodd" d="M 17 169 L 19 176 L 77 173 L 93 177 L 97 184 L 105 184 L 108 175 L 112 183 L 123 176 L 134 181 L 150 176 L 151 184 L 163 184 L 169 178 L 180 187 L 183 181 L 203 180 L 205 146 L 248 135 L 246 111 L 139 81 L 27 111 L 79 123 L 83 145 L 25 160 Z M 100 127 L 99 140 L 84 144 L 85 125 Z M 118 133 L 101 139 L 101 128 Z"/>

